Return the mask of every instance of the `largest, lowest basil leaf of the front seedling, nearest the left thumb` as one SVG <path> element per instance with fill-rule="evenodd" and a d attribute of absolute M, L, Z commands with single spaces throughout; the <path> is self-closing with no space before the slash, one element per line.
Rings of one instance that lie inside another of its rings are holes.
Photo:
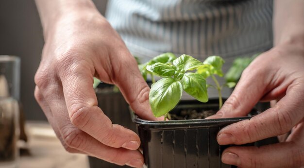
<path fill-rule="evenodd" d="M 182 84 L 173 78 L 163 78 L 152 84 L 149 102 L 155 117 L 161 117 L 172 110 L 183 93 Z"/>

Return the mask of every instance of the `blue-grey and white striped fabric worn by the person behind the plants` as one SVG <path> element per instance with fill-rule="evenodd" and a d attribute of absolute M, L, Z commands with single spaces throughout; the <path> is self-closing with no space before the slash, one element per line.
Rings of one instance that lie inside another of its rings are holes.
<path fill-rule="evenodd" d="M 168 51 L 227 58 L 272 46 L 272 0 L 109 0 L 106 17 L 147 59 Z"/>

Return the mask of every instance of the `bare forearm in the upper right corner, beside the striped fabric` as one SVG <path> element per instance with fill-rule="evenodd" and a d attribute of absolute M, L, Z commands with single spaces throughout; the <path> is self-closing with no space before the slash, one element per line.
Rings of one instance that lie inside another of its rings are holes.
<path fill-rule="evenodd" d="M 304 0 L 274 0 L 274 46 L 304 45 Z"/>

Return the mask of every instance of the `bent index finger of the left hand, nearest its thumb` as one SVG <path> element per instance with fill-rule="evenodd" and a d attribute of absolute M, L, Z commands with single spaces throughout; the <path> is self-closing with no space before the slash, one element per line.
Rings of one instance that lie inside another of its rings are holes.
<path fill-rule="evenodd" d="M 68 108 L 70 121 L 80 130 L 91 135 L 104 145 L 114 148 L 138 149 L 140 139 L 133 131 L 112 124 L 97 106 L 93 85 L 94 69 L 86 62 L 77 62 L 61 69 L 64 100 Z M 59 98 L 58 98 L 59 99 Z M 65 109 L 62 109 L 65 110 Z"/>

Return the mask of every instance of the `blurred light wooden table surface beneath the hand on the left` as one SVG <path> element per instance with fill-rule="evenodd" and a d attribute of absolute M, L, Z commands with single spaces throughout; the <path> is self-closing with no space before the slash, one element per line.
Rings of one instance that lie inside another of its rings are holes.
<path fill-rule="evenodd" d="M 22 155 L 19 168 L 88 168 L 87 156 L 68 153 L 47 122 L 26 123 L 30 155 Z M 22 144 L 19 144 L 23 146 Z"/>

